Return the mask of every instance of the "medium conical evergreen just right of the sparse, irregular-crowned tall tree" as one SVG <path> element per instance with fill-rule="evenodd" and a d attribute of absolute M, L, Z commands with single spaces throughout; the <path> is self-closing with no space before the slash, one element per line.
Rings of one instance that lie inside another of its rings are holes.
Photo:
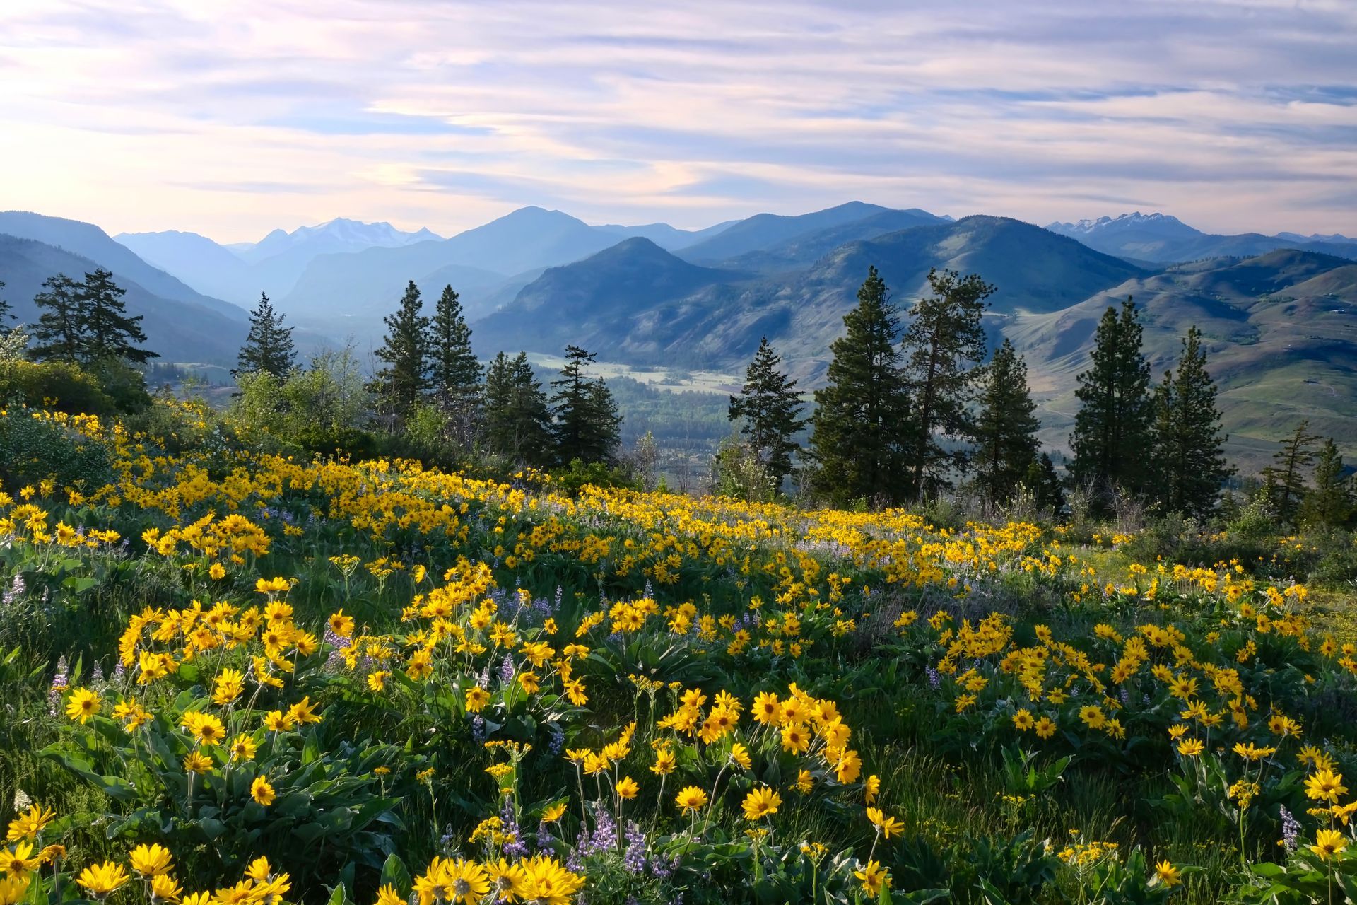
<path fill-rule="evenodd" d="M 1027 483 L 1037 465 L 1037 403 L 1027 388 L 1027 362 L 1004 339 L 989 362 L 989 374 L 976 419 L 977 450 L 973 465 L 985 502 L 1000 506 L 1012 499 L 1018 484 Z M 1054 471 L 1054 465 L 1052 465 Z M 1029 490 L 1037 493 L 1035 487 Z"/>

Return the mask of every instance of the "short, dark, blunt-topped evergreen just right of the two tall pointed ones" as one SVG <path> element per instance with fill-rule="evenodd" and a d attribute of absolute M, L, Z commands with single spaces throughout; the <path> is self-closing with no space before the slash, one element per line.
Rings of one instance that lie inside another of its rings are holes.
<path fill-rule="evenodd" d="M 551 412 L 528 355 L 495 355 L 486 369 L 486 450 L 525 465 L 551 464 Z"/>

